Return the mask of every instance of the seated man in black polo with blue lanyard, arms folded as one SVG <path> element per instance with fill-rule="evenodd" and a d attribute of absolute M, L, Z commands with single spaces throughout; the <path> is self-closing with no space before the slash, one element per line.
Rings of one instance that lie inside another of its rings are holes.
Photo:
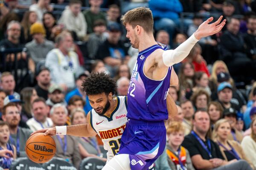
<path fill-rule="evenodd" d="M 189 151 L 195 169 L 251 170 L 250 165 L 244 160 L 225 161 L 218 144 L 207 136 L 209 128 L 209 114 L 206 111 L 196 111 L 193 116 L 193 130 L 185 136 L 181 144 Z"/>

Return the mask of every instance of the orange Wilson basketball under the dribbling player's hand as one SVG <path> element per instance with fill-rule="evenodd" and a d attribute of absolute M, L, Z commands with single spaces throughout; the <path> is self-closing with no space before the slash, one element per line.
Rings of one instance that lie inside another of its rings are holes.
<path fill-rule="evenodd" d="M 54 156 L 56 144 L 51 136 L 44 136 L 44 133 L 35 133 L 27 140 L 25 151 L 31 161 L 45 163 Z"/>

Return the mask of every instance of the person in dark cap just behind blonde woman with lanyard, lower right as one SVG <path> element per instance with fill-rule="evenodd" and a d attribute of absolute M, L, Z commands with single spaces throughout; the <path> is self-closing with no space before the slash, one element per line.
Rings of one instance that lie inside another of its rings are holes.
<path fill-rule="evenodd" d="M 237 111 L 234 108 L 224 109 L 223 117 L 224 119 L 227 119 L 231 125 L 231 133 L 229 134 L 227 139 L 235 140 L 241 143 L 243 135 L 238 130 L 236 130 Z"/>

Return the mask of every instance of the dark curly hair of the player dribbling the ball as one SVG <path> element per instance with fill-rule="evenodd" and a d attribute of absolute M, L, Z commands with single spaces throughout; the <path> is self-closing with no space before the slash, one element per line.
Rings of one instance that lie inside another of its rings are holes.
<path fill-rule="evenodd" d="M 84 79 L 82 87 L 87 95 L 109 94 L 110 92 L 113 95 L 116 94 L 116 81 L 106 73 L 92 73 L 90 77 Z"/>

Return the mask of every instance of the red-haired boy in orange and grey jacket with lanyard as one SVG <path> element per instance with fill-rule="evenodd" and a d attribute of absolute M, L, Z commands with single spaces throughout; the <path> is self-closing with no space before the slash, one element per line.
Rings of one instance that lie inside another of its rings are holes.
<path fill-rule="evenodd" d="M 180 122 L 172 122 L 166 130 L 168 138 L 166 153 L 172 170 L 195 170 L 189 156 L 189 151 L 181 146 L 184 140 L 184 131 L 185 129 Z"/>

